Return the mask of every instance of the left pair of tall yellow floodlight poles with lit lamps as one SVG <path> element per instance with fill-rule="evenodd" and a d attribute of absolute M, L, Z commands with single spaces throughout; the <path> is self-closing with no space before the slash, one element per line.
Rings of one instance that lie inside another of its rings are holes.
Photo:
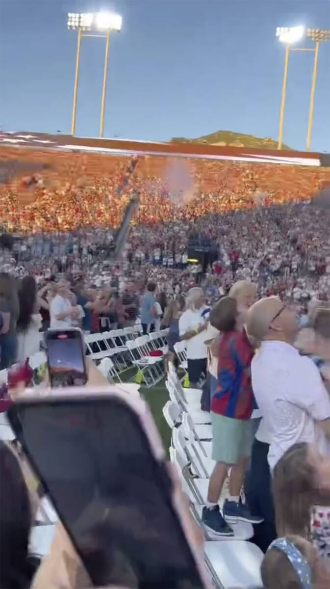
<path fill-rule="evenodd" d="M 105 112 L 105 98 L 106 98 L 106 81 L 108 78 L 108 61 L 109 61 L 109 39 L 110 32 L 121 30 L 122 17 L 119 14 L 112 12 L 69 12 L 68 14 L 68 29 L 78 29 L 78 41 L 76 51 L 76 69 L 75 69 L 75 83 L 74 83 L 74 102 L 72 106 L 72 123 L 71 123 L 71 135 L 75 134 L 76 127 L 76 105 L 78 97 L 78 78 L 79 78 L 79 61 L 80 61 L 80 50 L 81 50 L 81 39 L 82 37 L 96 37 L 105 38 L 105 64 L 103 74 L 103 89 L 102 89 L 102 101 L 101 101 L 101 117 L 99 126 L 99 136 L 103 137 L 104 132 L 104 112 Z M 86 34 L 85 31 L 106 31 L 105 35 Z"/>

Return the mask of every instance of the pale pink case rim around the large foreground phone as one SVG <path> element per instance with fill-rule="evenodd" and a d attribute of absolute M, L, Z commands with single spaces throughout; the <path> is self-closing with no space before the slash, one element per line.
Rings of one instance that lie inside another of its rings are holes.
<path fill-rule="evenodd" d="M 25 389 L 24 395 L 18 397 L 16 403 L 24 401 L 38 403 L 41 401 L 44 402 L 47 399 L 52 399 L 54 401 L 55 398 L 61 400 L 69 400 L 72 398 L 76 398 L 77 396 L 80 396 L 81 398 L 104 396 L 109 398 L 115 397 L 121 399 L 138 416 L 139 422 L 141 423 L 141 427 L 144 430 L 146 437 L 148 438 L 152 455 L 154 456 L 156 461 L 164 462 L 166 460 L 164 446 L 162 445 L 161 437 L 159 436 L 158 429 L 156 428 L 154 419 L 152 418 L 148 405 L 142 399 L 129 395 L 129 393 L 123 390 L 124 387 L 125 383 L 123 383 L 122 385 L 109 385 L 106 387 L 84 386 L 68 387 L 62 389 L 46 388 L 41 389 L 41 394 L 39 395 L 35 394 L 35 389 Z M 184 505 L 182 505 L 182 502 L 180 501 L 180 497 L 175 492 L 172 495 L 172 506 L 174 507 L 174 511 L 178 516 L 179 522 L 181 523 L 182 530 L 184 531 L 186 541 L 188 542 L 191 554 L 194 558 L 196 568 L 198 570 L 199 576 L 201 577 L 204 588 L 212 589 L 211 578 L 208 576 L 208 573 L 206 572 L 203 555 L 201 553 L 200 547 L 196 543 L 192 516 L 189 514 L 188 510 L 184 508 Z"/>

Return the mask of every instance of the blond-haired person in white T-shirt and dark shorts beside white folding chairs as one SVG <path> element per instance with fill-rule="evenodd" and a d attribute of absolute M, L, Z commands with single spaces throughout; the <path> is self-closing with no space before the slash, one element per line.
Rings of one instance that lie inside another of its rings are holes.
<path fill-rule="evenodd" d="M 186 295 L 185 312 L 179 319 L 179 335 L 186 342 L 189 383 L 194 388 L 201 375 L 206 375 L 207 349 L 204 343 L 204 330 L 207 321 L 203 289 L 194 287 Z"/>

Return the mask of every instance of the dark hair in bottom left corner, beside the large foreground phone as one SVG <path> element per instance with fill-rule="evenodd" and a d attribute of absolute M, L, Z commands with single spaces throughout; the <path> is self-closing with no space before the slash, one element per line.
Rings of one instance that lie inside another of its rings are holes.
<path fill-rule="evenodd" d="M 37 560 L 28 555 L 31 506 L 16 456 L 0 441 L 0 588 L 27 589 Z"/>

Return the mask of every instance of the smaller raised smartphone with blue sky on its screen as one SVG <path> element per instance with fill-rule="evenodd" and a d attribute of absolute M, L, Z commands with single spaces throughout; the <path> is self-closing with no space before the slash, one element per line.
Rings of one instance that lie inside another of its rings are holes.
<path fill-rule="evenodd" d="M 48 329 L 45 342 L 52 388 L 85 385 L 88 375 L 82 331 L 78 327 Z"/>

